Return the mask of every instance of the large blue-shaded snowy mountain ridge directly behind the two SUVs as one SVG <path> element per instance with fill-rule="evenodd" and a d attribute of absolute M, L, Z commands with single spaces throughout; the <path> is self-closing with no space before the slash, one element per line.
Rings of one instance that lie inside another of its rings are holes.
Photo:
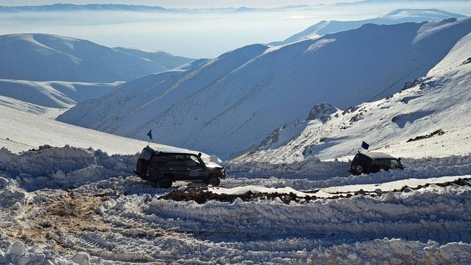
<path fill-rule="evenodd" d="M 471 19 L 364 25 L 287 46 L 252 45 L 127 82 L 58 120 L 228 158 L 314 105 L 339 109 L 400 91 L 468 35 Z M 119 106 L 119 108 L 116 108 Z"/>

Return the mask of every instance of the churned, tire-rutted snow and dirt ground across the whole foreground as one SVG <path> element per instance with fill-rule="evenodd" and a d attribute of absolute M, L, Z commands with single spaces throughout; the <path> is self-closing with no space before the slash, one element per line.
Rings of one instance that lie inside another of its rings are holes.
<path fill-rule="evenodd" d="M 221 189 L 154 188 L 132 176 L 135 161 L 73 147 L 0 149 L 0 264 L 471 264 L 470 156 L 405 160 L 403 172 L 330 178 L 276 170 L 267 177 L 266 165 L 231 165 L 252 173 L 229 177 Z M 312 160 L 302 167 L 344 164 Z M 440 176 L 450 177 L 423 185 Z M 391 181 L 413 183 L 411 177 L 422 184 L 387 190 Z M 371 190 L 373 183 L 382 190 Z M 267 188 L 293 194 L 162 199 Z M 351 194 L 302 197 L 312 190 Z"/>

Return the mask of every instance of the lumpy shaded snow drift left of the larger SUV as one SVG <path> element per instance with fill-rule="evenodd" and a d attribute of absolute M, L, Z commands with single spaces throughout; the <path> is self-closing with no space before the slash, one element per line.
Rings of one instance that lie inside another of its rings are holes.
<path fill-rule="evenodd" d="M 132 174 L 138 154 L 108 156 L 100 149 L 46 148 L 13 154 L 0 149 L 0 172 L 26 190 L 66 189 L 85 183 Z"/>

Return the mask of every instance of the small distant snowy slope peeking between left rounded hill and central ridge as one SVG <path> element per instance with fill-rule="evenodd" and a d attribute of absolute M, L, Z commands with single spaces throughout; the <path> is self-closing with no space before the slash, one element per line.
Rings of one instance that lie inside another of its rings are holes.
<path fill-rule="evenodd" d="M 186 57 L 172 55 L 170 53 L 166 53 L 163 51 L 145 51 L 137 48 L 123 48 L 123 47 L 115 47 L 117 51 L 121 51 L 123 53 L 127 53 L 130 55 L 136 55 L 139 57 L 143 57 L 145 59 L 157 62 L 161 66 L 167 69 L 177 68 L 184 64 L 188 64 L 189 62 L 194 61 L 195 59 L 190 59 Z"/>

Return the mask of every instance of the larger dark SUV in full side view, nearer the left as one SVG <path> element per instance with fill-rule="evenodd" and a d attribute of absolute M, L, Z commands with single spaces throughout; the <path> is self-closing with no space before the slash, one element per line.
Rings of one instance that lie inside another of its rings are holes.
<path fill-rule="evenodd" d="M 217 186 L 226 170 L 216 163 L 204 163 L 201 153 L 159 152 L 147 146 L 137 161 L 136 174 L 160 188 L 170 188 L 174 181 L 204 181 Z"/>

